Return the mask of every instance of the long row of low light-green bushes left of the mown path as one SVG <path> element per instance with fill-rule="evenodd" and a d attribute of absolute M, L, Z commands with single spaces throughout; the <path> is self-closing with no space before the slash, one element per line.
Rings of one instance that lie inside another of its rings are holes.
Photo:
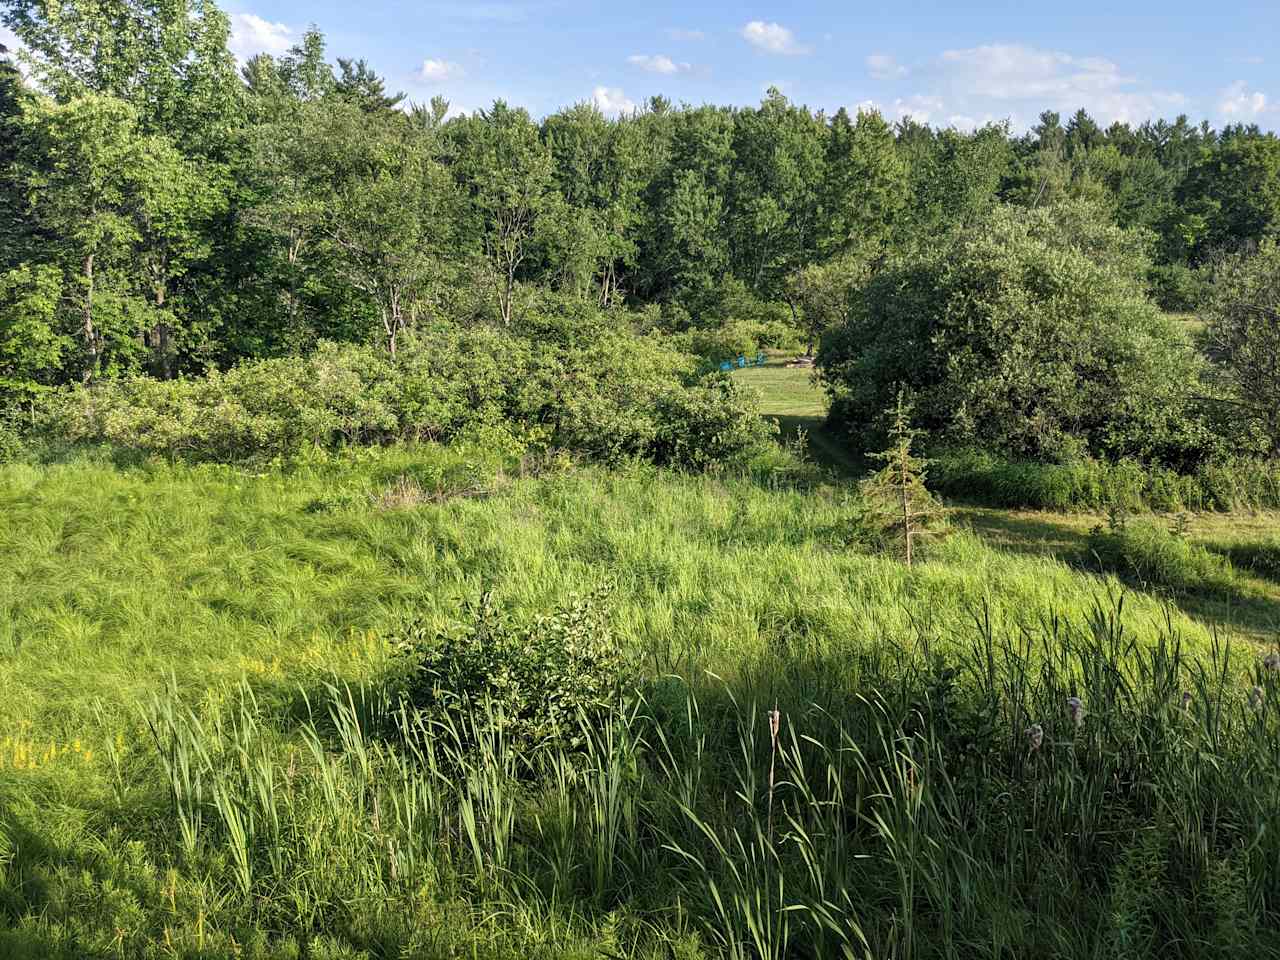
<path fill-rule="evenodd" d="M 439 325 L 375 347 L 242 364 L 197 379 L 104 381 L 55 394 L 54 436 L 237 461 L 310 447 L 451 440 L 504 424 L 600 460 L 703 467 L 745 460 L 769 426 L 750 394 L 609 317 L 534 315 L 511 329 Z"/>

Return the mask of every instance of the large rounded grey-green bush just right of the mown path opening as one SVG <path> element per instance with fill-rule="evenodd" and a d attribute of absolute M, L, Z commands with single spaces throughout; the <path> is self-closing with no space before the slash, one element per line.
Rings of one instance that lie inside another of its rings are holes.
<path fill-rule="evenodd" d="M 861 429 L 904 385 L 922 425 L 957 443 L 1193 456 L 1199 362 L 1144 293 L 1146 243 L 1087 205 L 1001 207 L 882 270 L 823 339 L 832 416 Z"/>

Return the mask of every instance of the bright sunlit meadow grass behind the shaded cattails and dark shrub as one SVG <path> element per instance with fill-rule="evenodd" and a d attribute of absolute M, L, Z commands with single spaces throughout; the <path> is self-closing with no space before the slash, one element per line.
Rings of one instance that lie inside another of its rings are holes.
<path fill-rule="evenodd" d="M 910 641 L 1108 588 L 1048 558 L 972 538 L 909 573 L 841 543 L 841 495 L 746 480 L 584 470 L 500 483 L 486 498 L 379 509 L 370 495 L 433 457 L 262 476 L 228 468 L 0 468 L 0 724 L 44 742 L 137 732 L 134 707 L 173 673 L 186 689 L 242 675 L 282 695 L 376 668 L 381 631 L 454 616 L 492 588 L 544 608 L 616 582 L 622 636 L 655 671 L 731 675 L 796 641 Z M 325 504 L 334 504 L 326 507 Z M 1132 607 L 1155 622 L 1158 605 Z M 1188 631 L 1203 636 L 1190 620 Z M 102 732 L 105 735 L 106 731 Z M 0 758 L 3 763 L 3 758 Z"/>

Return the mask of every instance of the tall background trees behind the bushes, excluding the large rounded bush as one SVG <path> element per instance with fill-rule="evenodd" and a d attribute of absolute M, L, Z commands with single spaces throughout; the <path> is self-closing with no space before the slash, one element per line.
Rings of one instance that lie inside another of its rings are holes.
<path fill-rule="evenodd" d="M 394 352 L 439 319 L 511 324 L 547 291 L 668 332 L 751 321 L 810 342 L 849 283 L 992 209 L 1093 204 L 1143 230 L 1166 307 L 1280 224 L 1280 141 L 1185 118 L 1051 113 L 973 133 L 655 97 L 540 123 L 406 105 L 311 31 L 242 69 L 207 0 L 18 0 L 0 76 L 0 392 L 172 379 L 324 340 Z M 632 317 L 635 319 L 635 317 Z"/>

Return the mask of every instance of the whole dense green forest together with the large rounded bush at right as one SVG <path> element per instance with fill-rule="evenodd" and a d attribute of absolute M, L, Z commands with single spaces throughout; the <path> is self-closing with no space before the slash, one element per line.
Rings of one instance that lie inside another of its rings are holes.
<path fill-rule="evenodd" d="M 1103 129 L 1080 110 L 960 132 L 777 91 L 451 115 L 330 63 L 316 29 L 238 65 L 207 0 L 50 9 L 4 14 L 23 45 L 0 73 L 0 401 L 18 422 L 54 388 L 333 344 L 461 364 L 476 337 L 529 347 L 547 317 L 590 317 L 626 334 L 616 353 L 826 337 L 833 417 L 855 428 L 906 387 L 925 426 L 1019 456 L 1280 447 L 1276 335 L 1254 329 L 1275 326 L 1257 303 L 1280 140 L 1257 127 Z M 1192 349 L 1156 305 L 1216 311 L 1212 343 Z"/>

